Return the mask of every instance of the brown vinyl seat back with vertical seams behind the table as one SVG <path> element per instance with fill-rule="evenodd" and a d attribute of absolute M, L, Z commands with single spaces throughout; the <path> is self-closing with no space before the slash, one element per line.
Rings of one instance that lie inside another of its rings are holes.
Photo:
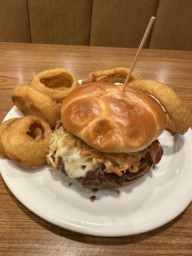
<path fill-rule="evenodd" d="M 0 41 L 192 51 L 191 0 L 3 0 Z"/>

